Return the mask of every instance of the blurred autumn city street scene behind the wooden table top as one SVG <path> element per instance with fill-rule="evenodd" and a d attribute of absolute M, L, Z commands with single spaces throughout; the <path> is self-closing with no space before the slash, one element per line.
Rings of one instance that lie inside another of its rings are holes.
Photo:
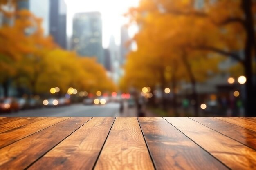
<path fill-rule="evenodd" d="M 0 116 L 256 116 L 256 0 L 0 0 Z"/>

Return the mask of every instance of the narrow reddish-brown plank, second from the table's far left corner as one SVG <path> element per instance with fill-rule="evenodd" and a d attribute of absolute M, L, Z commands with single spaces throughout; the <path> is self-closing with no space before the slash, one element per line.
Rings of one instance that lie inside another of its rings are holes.
<path fill-rule="evenodd" d="M 1 124 L 0 133 L 5 132 L 7 130 L 11 130 L 14 128 L 18 128 L 20 126 L 24 126 L 26 124 L 33 123 L 38 120 L 45 119 L 46 117 L 24 117 L 23 119 L 13 120 L 9 123 Z"/>

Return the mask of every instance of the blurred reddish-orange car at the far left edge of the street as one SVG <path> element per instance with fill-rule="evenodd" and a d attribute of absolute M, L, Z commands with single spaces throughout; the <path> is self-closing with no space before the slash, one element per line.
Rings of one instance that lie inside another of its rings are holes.
<path fill-rule="evenodd" d="M 1 112 L 13 112 L 19 110 L 19 104 L 13 97 L 0 99 L 0 111 Z"/>

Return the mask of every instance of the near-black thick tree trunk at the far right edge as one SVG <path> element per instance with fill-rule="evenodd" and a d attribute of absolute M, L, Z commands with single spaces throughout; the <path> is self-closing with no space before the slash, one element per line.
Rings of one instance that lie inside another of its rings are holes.
<path fill-rule="evenodd" d="M 255 92 L 253 86 L 253 71 L 252 71 L 252 49 L 254 49 L 254 22 L 251 11 L 252 0 L 242 0 L 242 9 L 245 13 L 245 31 L 247 33 L 247 39 L 245 42 L 245 77 L 247 81 L 245 83 L 245 116 L 251 117 L 256 114 L 255 105 Z"/>

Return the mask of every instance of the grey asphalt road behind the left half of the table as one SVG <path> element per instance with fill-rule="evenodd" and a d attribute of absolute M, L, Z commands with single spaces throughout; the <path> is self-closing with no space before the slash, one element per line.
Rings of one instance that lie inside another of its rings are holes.
<path fill-rule="evenodd" d="M 119 103 L 106 105 L 72 104 L 55 108 L 20 110 L 17 113 L 0 113 L 0 117 L 117 117 Z"/>

